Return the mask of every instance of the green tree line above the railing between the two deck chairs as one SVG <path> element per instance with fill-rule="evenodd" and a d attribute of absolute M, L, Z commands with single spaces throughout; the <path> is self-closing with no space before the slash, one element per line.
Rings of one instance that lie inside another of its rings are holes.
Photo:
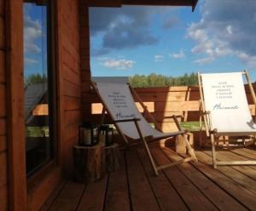
<path fill-rule="evenodd" d="M 185 73 L 181 77 L 164 76 L 151 73 L 148 76 L 134 75 L 129 77 L 129 83 L 132 87 L 146 88 L 146 87 L 170 87 L 170 86 L 192 86 L 198 84 L 197 74 Z"/>

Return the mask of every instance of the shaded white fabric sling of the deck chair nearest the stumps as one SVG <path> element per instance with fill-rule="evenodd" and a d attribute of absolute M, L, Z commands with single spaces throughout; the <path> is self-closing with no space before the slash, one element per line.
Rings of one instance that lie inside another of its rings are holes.
<path fill-rule="evenodd" d="M 97 92 L 102 99 L 102 104 L 105 106 L 113 121 L 140 118 L 138 122 L 143 136 L 158 136 L 161 133 L 152 128 L 143 115 L 137 110 L 137 106 L 131 95 L 131 89 L 127 83 L 115 82 L 95 82 Z M 137 140 L 140 138 L 134 122 L 116 123 L 119 131 L 122 134 Z"/>

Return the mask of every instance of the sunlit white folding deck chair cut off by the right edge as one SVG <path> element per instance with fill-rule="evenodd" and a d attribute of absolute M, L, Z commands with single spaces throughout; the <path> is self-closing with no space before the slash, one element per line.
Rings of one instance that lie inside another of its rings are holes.
<path fill-rule="evenodd" d="M 244 88 L 246 77 L 253 104 L 256 98 L 247 71 L 201 74 L 198 81 L 201 96 L 201 117 L 205 123 L 207 137 L 212 144 L 212 164 L 255 165 L 256 161 L 217 161 L 215 143 L 220 136 L 244 137 L 252 135 L 255 140 L 256 124 L 253 121 Z M 201 122 L 201 119 L 200 119 Z M 200 123 L 200 125 L 202 125 Z"/>

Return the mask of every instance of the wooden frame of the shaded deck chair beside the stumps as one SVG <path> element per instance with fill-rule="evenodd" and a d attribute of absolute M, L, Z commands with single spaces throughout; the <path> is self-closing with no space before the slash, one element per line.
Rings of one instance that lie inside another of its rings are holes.
<path fill-rule="evenodd" d="M 97 89 L 97 86 L 96 86 L 96 83 L 95 82 L 92 82 L 91 81 L 91 85 L 92 87 L 94 88 L 94 90 L 96 91 L 96 94 L 99 96 L 99 98 L 101 99 L 102 101 L 102 105 L 103 105 L 103 109 L 102 109 L 102 123 L 104 121 L 104 116 L 105 116 L 105 113 L 107 111 L 108 115 L 111 117 L 111 119 L 113 120 L 113 116 L 111 114 L 111 112 L 109 111 L 108 109 L 108 105 L 105 104 L 104 100 L 102 100 L 102 96 L 101 94 L 99 93 L 98 89 Z M 134 88 L 131 87 L 131 85 L 128 83 L 128 86 L 130 88 L 130 91 L 131 91 L 131 94 L 133 94 L 138 102 L 140 103 L 140 105 L 143 107 L 143 114 L 144 115 L 148 115 L 148 117 L 152 120 L 152 122 L 154 123 L 155 125 L 155 128 L 157 128 L 158 130 L 160 130 L 160 126 L 158 123 L 156 123 L 154 117 L 151 115 L 151 113 L 148 111 L 148 108 L 147 106 L 145 106 L 143 104 L 143 100 L 141 100 L 141 98 L 138 96 L 137 92 L 134 90 Z M 135 102 L 134 102 L 135 103 Z M 195 157 L 195 151 L 192 149 L 191 145 L 189 144 L 189 140 L 187 139 L 186 137 L 186 131 L 183 131 L 181 130 L 181 128 L 179 127 L 178 125 L 178 121 L 177 121 L 177 117 L 176 116 L 172 116 L 173 119 L 174 119 L 174 122 L 177 124 L 177 128 L 178 128 L 178 131 L 176 133 L 168 133 L 168 134 L 163 134 L 163 136 L 160 136 L 158 138 L 152 138 L 150 136 L 146 136 L 145 134 L 143 134 L 139 124 L 138 124 L 138 121 L 140 121 L 139 118 L 131 118 L 131 119 L 123 119 L 123 120 L 118 120 L 118 121 L 113 121 L 115 127 L 117 128 L 119 134 L 122 136 L 122 138 L 125 140 L 126 144 L 129 146 L 129 141 L 127 140 L 127 138 L 125 137 L 125 134 L 122 133 L 121 129 L 119 128 L 119 125 L 117 123 L 125 123 L 125 122 L 133 122 L 135 123 L 135 126 L 137 128 L 137 132 L 139 134 L 139 137 L 140 137 L 140 141 L 143 142 L 143 145 L 145 146 L 145 150 L 148 154 L 148 158 L 150 160 L 150 163 L 151 163 L 151 166 L 154 170 L 154 174 L 155 176 L 157 176 L 159 173 L 158 171 L 161 170 L 161 169 L 164 169 L 164 168 L 170 168 L 172 166 L 175 166 L 177 164 L 180 164 L 180 163 L 186 163 L 186 162 L 189 162 L 189 161 L 197 161 L 197 158 Z M 186 145 L 186 148 L 188 149 L 189 151 L 189 155 L 190 157 L 186 157 L 186 158 L 183 158 L 177 162 L 172 162 L 172 163 L 168 163 L 166 165 L 160 165 L 160 166 L 157 166 L 156 163 L 154 162 L 154 158 L 152 157 L 151 155 L 151 152 L 149 150 L 149 147 L 148 147 L 148 141 L 156 141 L 156 140 L 164 140 L 166 138 L 171 138 L 171 137 L 174 137 L 174 136 L 177 136 L 177 135 L 182 135 L 183 136 L 183 140 L 185 142 L 185 145 Z"/>

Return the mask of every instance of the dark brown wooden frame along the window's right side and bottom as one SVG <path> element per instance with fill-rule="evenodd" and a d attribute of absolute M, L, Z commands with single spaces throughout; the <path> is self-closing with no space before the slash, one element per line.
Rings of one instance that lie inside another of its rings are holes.
<path fill-rule="evenodd" d="M 51 0 L 24 0 L 23 3 L 47 3 L 47 74 L 48 74 L 48 100 L 49 100 L 49 137 L 52 138 L 50 160 L 44 166 L 36 169 L 32 174 L 26 175 L 28 191 L 38 181 L 42 180 L 58 164 L 58 101 L 57 101 L 57 70 L 56 70 L 56 31 L 55 31 L 55 1 Z M 24 27 L 24 25 L 23 25 Z M 25 153 L 26 154 L 26 153 Z M 26 157 L 26 155 L 25 155 Z"/>

